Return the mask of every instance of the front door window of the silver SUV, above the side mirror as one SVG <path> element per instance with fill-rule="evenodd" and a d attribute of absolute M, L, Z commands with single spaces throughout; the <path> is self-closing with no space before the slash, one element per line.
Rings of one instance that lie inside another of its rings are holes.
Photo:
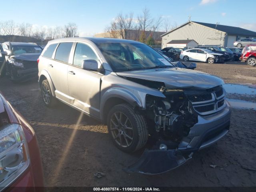
<path fill-rule="evenodd" d="M 86 44 L 78 43 L 74 54 L 73 64 L 81 67 L 83 60 L 93 59 L 98 61 L 98 58 L 94 51 Z"/>

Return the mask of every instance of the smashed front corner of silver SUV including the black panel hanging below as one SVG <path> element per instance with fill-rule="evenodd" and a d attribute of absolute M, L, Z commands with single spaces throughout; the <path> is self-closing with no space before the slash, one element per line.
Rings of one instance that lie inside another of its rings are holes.
<path fill-rule="evenodd" d="M 158 88 L 166 98 L 148 95 L 146 110 L 148 129 L 152 140 L 150 150 L 145 150 L 138 161 L 126 172 L 160 174 L 184 164 L 192 158 L 178 149 L 180 142 L 198 122 L 198 114 L 183 90 Z"/>

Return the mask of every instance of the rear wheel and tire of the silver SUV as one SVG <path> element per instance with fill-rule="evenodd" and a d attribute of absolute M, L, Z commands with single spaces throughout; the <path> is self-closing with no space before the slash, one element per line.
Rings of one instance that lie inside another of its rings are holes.
<path fill-rule="evenodd" d="M 52 95 L 52 91 L 51 91 L 51 88 L 50 88 L 48 80 L 46 80 L 46 79 L 43 80 L 41 85 L 40 85 L 40 88 L 41 88 L 41 94 L 42 94 L 42 99 L 43 99 L 44 104 L 47 107 L 55 106 L 57 100 Z"/>

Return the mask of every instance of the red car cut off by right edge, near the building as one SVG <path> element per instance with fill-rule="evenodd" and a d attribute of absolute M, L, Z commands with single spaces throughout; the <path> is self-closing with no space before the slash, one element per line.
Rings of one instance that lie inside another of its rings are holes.
<path fill-rule="evenodd" d="M 256 44 L 246 45 L 240 60 L 246 62 L 249 66 L 256 66 Z"/>

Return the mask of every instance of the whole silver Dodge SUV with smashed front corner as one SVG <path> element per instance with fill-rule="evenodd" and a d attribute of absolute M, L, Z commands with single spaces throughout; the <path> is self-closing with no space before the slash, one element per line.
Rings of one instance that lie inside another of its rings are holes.
<path fill-rule="evenodd" d="M 49 41 L 39 57 L 46 106 L 57 100 L 108 126 L 114 144 L 134 152 L 148 142 L 127 171 L 156 174 L 210 146 L 230 126 L 224 81 L 172 65 L 149 46 L 112 38 Z M 156 162 L 161 161 L 156 166 Z"/>

